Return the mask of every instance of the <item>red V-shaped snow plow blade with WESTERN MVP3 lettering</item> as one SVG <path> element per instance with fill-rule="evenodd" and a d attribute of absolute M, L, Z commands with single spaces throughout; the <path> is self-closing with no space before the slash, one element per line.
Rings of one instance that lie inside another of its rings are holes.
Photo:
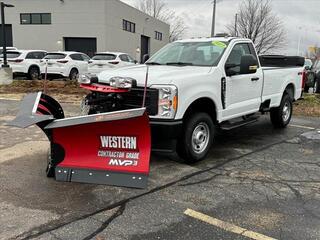
<path fill-rule="evenodd" d="M 9 124 L 36 124 L 50 141 L 47 176 L 57 181 L 147 187 L 151 136 L 145 108 L 64 118 L 41 92 L 27 95 Z"/>

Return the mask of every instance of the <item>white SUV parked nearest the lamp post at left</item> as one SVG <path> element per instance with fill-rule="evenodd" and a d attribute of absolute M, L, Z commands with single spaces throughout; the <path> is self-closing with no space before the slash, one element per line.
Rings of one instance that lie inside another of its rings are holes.
<path fill-rule="evenodd" d="M 40 78 L 40 60 L 46 55 L 44 50 L 10 50 L 7 52 L 8 64 L 13 78 L 22 76 L 34 80 Z M 3 62 L 3 54 L 0 55 Z"/>

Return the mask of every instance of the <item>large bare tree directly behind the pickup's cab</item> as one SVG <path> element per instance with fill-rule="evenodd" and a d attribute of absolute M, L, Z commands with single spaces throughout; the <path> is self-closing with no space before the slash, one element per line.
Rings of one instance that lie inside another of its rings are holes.
<path fill-rule="evenodd" d="M 270 0 L 243 0 L 237 23 L 227 26 L 230 34 L 250 38 L 259 54 L 281 49 L 286 34 L 281 20 L 273 13 Z"/>

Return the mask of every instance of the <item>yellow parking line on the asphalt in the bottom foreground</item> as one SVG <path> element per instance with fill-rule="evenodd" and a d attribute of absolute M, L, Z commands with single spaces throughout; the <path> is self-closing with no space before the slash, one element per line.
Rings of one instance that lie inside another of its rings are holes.
<path fill-rule="evenodd" d="M 238 227 L 238 226 L 233 225 L 231 223 L 227 223 L 227 222 L 221 221 L 221 220 L 219 220 L 217 218 L 210 217 L 208 215 L 205 215 L 203 213 L 194 211 L 192 209 L 187 209 L 184 212 L 184 214 L 188 215 L 190 217 L 193 217 L 195 219 L 198 219 L 200 221 L 206 222 L 208 224 L 211 224 L 213 226 L 216 226 L 218 228 L 221 228 L 221 229 L 223 229 L 225 231 L 233 232 L 233 233 L 236 233 L 236 234 L 239 234 L 241 236 L 248 237 L 248 238 L 251 238 L 251 239 L 255 239 L 255 240 L 276 240 L 275 238 L 271 238 L 271 237 L 265 236 L 265 235 L 260 234 L 260 233 L 249 231 L 249 230 L 247 230 L 245 228 Z"/>

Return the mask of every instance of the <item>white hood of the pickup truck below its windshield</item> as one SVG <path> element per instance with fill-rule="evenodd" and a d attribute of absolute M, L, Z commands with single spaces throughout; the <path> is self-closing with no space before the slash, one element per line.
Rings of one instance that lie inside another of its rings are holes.
<path fill-rule="evenodd" d="M 149 66 L 148 87 L 154 84 L 174 84 L 175 81 L 208 74 L 212 67 L 199 66 Z M 115 70 L 106 70 L 98 74 L 99 82 L 109 83 L 112 77 L 130 77 L 137 80 L 138 86 L 144 86 L 146 79 L 146 65 L 123 67 Z"/>

